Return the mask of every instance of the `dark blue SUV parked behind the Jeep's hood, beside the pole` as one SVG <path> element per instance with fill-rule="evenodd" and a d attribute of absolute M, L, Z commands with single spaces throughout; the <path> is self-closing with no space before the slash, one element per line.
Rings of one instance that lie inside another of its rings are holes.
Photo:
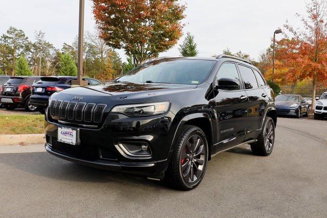
<path fill-rule="evenodd" d="M 50 96 L 57 92 L 72 87 L 72 80 L 76 77 L 41 77 L 32 87 L 31 104 L 43 111 L 48 107 Z M 101 84 L 100 81 L 91 78 L 83 78 L 88 85 Z"/>

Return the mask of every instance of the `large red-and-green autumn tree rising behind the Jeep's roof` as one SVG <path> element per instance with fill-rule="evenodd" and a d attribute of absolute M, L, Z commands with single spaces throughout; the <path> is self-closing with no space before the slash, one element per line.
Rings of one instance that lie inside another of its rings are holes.
<path fill-rule="evenodd" d="M 133 55 L 137 65 L 177 43 L 184 10 L 177 0 L 94 0 L 101 38 Z"/>

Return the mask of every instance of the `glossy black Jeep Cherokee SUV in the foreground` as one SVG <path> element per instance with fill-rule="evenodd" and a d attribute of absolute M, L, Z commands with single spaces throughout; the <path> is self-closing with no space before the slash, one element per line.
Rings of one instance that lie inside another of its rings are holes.
<path fill-rule="evenodd" d="M 49 153 L 183 190 L 219 152 L 249 143 L 269 155 L 277 121 L 258 68 L 226 55 L 159 58 L 112 83 L 54 93 L 45 118 Z"/>

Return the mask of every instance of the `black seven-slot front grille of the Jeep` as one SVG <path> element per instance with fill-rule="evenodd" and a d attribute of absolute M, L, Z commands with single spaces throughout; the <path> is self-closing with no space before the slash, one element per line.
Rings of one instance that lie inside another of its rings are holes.
<path fill-rule="evenodd" d="M 52 100 L 49 109 L 50 115 L 57 119 L 101 123 L 106 107 L 104 104 Z"/>

